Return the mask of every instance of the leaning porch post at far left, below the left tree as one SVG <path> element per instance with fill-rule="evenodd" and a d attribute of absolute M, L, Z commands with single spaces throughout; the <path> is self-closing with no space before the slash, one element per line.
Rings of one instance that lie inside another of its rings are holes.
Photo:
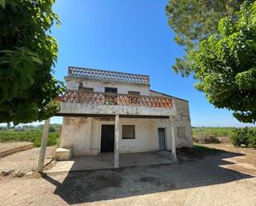
<path fill-rule="evenodd" d="M 38 171 L 42 171 L 45 163 L 46 157 L 46 146 L 47 146 L 47 137 L 50 127 L 50 118 L 46 119 L 45 126 L 43 128 L 42 137 L 41 137 L 41 147 L 40 147 L 40 155 L 38 160 Z"/>

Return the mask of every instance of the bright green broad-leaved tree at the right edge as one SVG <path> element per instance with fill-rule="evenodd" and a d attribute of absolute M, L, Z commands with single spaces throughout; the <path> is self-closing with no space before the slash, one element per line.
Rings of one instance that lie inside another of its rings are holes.
<path fill-rule="evenodd" d="M 235 18 L 190 54 L 196 89 L 217 108 L 234 111 L 240 122 L 256 122 L 256 2 L 244 2 Z"/>

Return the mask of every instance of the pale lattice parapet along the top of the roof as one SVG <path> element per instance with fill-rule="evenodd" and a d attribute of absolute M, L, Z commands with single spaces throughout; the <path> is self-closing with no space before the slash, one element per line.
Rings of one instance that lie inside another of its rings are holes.
<path fill-rule="evenodd" d="M 120 80 L 138 84 L 149 84 L 148 75 L 129 74 L 123 72 L 107 71 L 101 69 L 88 69 L 73 66 L 69 67 L 69 76 L 89 79 Z"/>

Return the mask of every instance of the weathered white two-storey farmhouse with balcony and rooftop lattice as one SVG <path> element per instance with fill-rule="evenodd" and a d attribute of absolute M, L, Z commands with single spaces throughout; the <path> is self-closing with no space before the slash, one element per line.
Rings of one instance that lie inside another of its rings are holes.
<path fill-rule="evenodd" d="M 99 69 L 69 67 L 59 155 L 91 156 L 144 151 L 171 151 L 192 146 L 186 100 L 150 89 L 149 77 Z M 68 159 L 69 156 L 60 156 Z"/>

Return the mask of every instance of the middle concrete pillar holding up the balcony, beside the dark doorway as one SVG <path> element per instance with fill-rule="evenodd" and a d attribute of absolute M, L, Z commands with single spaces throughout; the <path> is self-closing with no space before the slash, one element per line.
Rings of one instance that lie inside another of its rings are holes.
<path fill-rule="evenodd" d="M 118 168 L 119 166 L 119 131 L 120 131 L 120 123 L 119 123 L 119 114 L 116 114 L 114 121 L 114 167 Z"/>

